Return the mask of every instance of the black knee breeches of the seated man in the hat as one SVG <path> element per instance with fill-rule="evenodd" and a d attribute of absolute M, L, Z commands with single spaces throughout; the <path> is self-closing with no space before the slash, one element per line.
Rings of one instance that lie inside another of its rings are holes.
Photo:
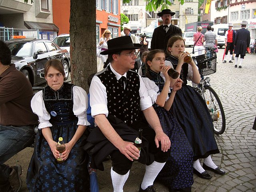
<path fill-rule="evenodd" d="M 148 126 L 148 124 L 144 122 L 136 122 L 130 125 L 130 127 L 136 131 L 138 128 L 143 129 L 142 150 L 144 149 L 144 153 L 142 153 L 141 150 L 138 162 L 145 163 L 145 159 L 148 159 L 146 165 L 150 165 L 153 161 L 160 163 L 167 161 L 170 150 L 163 152 L 161 150 L 161 144 L 159 144 L 159 147 L 156 148 L 156 143 L 154 141 L 156 134 L 155 131 Z M 148 141 L 148 143 L 145 141 L 145 139 Z M 143 143 L 147 143 L 148 146 L 144 146 Z M 119 150 L 114 150 L 114 152 L 110 154 L 110 157 L 112 160 L 112 168 L 116 173 L 124 175 L 132 168 L 132 161 L 126 158 L 126 156 L 124 156 L 124 154 L 122 154 Z"/>

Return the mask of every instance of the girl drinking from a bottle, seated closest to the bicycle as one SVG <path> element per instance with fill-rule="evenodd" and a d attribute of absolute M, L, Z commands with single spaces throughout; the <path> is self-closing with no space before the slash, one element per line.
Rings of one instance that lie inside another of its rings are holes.
<path fill-rule="evenodd" d="M 192 146 L 194 173 L 201 178 L 211 179 L 212 175 L 206 170 L 220 175 L 225 174 L 225 171 L 212 161 L 211 154 L 220 153 L 214 138 L 212 118 L 200 94 L 187 85 L 187 80 L 198 84 L 201 77 L 193 60 L 189 63 L 184 62 L 184 58 L 189 54 L 184 52 L 184 49 L 185 42 L 181 36 L 173 36 L 169 39 L 167 52 L 170 56 L 166 58 L 166 64 L 177 70 L 183 81 L 182 88 L 176 93 L 171 110 Z M 175 83 L 176 80 L 171 79 L 171 87 Z M 201 166 L 199 158 L 204 158 L 203 166 Z"/>

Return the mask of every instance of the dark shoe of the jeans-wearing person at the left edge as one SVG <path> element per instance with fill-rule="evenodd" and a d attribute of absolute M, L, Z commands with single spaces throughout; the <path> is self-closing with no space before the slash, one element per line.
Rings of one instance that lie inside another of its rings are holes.
<path fill-rule="evenodd" d="M 11 166 L 12 172 L 9 175 L 9 182 L 12 186 L 12 192 L 18 192 L 20 191 L 20 188 L 22 186 L 22 180 L 20 178 L 21 175 L 21 166 Z"/>

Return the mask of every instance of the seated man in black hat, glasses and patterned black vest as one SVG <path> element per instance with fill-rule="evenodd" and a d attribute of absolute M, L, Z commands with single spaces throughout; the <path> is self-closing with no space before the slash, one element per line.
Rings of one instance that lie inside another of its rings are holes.
<path fill-rule="evenodd" d="M 139 192 L 156 192 L 153 182 L 170 149 L 145 84 L 130 70 L 140 47 L 130 36 L 108 40 L 108 50 L 100 54 L 108 54 L 110 65 L 92 78 L 90 86 L 91 113 L 97 125 L 87 139 L 94 146 L 91 166 L 104 170 L 102 161 L 111 156 L 114 192 L 123 192 L 134 160 L 146 164 Z M 148 123 L 142 121 L 141 112 Z M 139 128 L 143 129 L 140 151 L 133 144 Z"/>

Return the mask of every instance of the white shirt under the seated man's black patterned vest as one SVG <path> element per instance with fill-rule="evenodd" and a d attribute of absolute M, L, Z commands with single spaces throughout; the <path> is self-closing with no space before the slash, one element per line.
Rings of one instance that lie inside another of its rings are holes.
<path fill-rule="evenodd" d="M 126 77 L 126 73 L 124 75 L 120 75 L 116 72 L 112 65 L 110 64 L 111 71 L 116 75 L 116 80 L 119 80 L 121 76 Z M 145 84 L 140 78 L 140 110 L 145 110 L 152 106 L 151 98 L 148 96 L 148 92 L 146 90 Z M 98 76 L 94 76 L 92 78 L 92 82 L 90 85 L 90 106 L 92 108 L 91 114 L 92 117 L 98 114 L 105 114 L 108 116 L 108 100 L 107 100 L 107 92 L 106 87 L 102 84 L 100 78 Z"/>

